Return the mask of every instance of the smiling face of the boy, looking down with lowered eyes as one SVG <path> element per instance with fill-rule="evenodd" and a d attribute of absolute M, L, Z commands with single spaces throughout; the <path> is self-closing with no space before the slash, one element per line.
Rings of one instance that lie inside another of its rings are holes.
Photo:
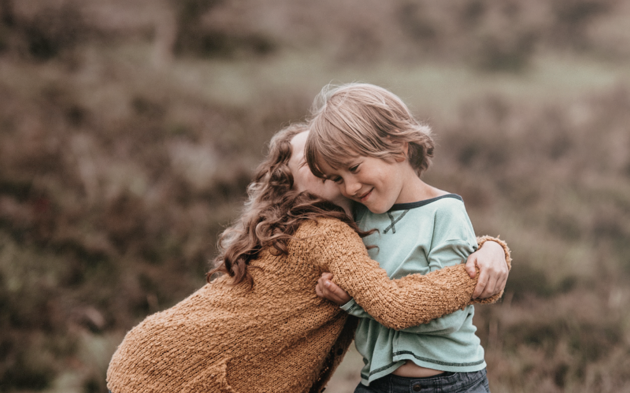
<path fill-rule="evenodd" d="M 416 202 L 408 184 L 417 176 L 406 158 L 392 158 L 389 162 L 358 156 L 337 169 L 324 163 L 321 170 L 338 185 L 343 196 L 364 204 L 372 213 L 385 213 L 395 203 Z"/>

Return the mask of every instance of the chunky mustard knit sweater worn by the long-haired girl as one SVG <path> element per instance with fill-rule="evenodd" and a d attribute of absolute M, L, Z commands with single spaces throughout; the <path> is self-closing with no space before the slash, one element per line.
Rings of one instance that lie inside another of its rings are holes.
<path fill-rule="evenodd" d="M 135 326 L 107 370 L 113 393 L 320 392 L 356 326 L 319 298 L 322 272 L 384 326 L 403 329 L 471 304 L 464 265 L 390 280 L 357 233 L 336 219 L 305 221 L 289 255 L 263 250 L 253 288 L 224 275 Z M 506 248 L 507 250 L 507 248 Z M 500 295 L 483 302 L 493 302 Z"/>

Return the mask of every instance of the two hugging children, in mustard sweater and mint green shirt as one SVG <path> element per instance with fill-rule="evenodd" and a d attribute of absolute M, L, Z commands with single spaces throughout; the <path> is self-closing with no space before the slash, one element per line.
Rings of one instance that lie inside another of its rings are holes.
<path fill-rule="evenodd" d="M 398 97 L 321 98 L 273 136 L 207 284 L 125 335 L 111 392 L 320 393 L 353 338 L 357 392 L 488 390 L 469 305 L 501 296 L 507 245 L 420 180 L 430 132 Z"/>

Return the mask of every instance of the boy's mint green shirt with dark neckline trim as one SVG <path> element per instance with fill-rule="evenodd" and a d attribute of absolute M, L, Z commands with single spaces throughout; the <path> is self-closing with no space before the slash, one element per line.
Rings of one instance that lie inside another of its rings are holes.
<path fill-rule="evenodd" d="M 477 248 L 473 224 L 464 202 L 455 194 L 395 204 L 383 214 L 358 206 L 356 218 L 362 230 L 379 230 L 366 236 L 364 243 L 377 246 L 368 250 L 370 257 L 392 279 L 465 262 Z M 360 318 L 355 345 L 364 357 L 364 385 L 391 374 L 406 360 L 451 372 L 473 372 L 486 367 L 483 348 L 474 334 L 473 306 L 403 330 L 382 326 L 354 300 L 341 308 Z"/>

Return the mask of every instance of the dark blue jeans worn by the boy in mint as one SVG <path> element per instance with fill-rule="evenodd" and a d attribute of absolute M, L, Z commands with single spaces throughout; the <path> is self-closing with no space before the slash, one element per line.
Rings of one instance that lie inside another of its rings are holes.
<path fill-rule="evenodd" d="M 358 384 L 354 393 L 490 393 L 486 369 L 445 372 L 434 377 L 410 378 L 386 375 L 369 386 Z"/>

